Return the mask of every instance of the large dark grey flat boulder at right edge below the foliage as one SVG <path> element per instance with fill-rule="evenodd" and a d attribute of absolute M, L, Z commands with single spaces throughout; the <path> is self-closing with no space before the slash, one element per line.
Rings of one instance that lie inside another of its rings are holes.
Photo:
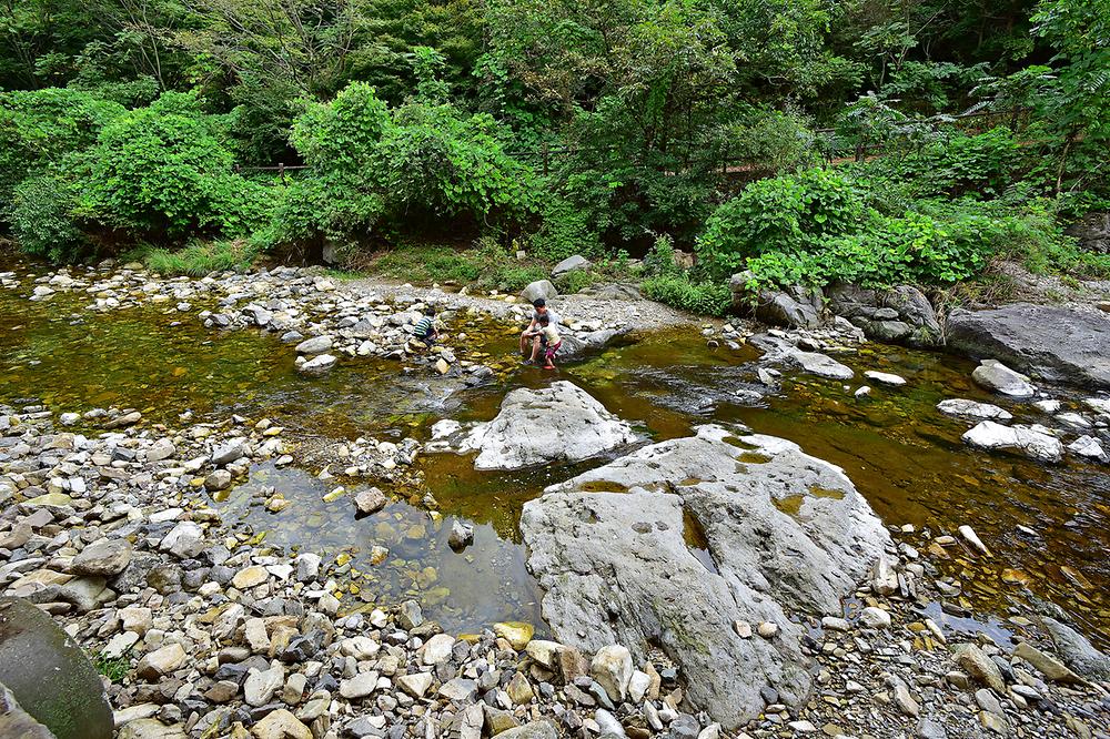
<path fill-rule="evenodd" d="M 952 311 L 948 345 L 1041 379 L 1110 387 L 1110 316 L 1097 311 L 1030 303 Z"/>

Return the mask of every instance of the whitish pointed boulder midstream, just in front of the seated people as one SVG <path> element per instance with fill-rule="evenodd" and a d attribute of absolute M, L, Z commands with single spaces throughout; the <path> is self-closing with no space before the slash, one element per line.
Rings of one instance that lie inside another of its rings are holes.
<path fill-rule="evenodd" d="M 561 381 L 506 395 L 497 417 L 474 427 L 461 451 L 478 451 L 476 469 L 517 469 L 586 459 L 635 439 L 626 422 L 584 389 Z"/>

